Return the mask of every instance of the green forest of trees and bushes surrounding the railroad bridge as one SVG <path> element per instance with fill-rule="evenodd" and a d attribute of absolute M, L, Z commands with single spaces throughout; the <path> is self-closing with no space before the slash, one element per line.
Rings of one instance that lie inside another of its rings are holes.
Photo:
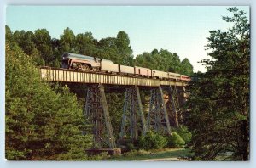
<path fill-rule="evenodd" d="M 201 60 L 206 73 L 194 73 L 189 59 L 177 53 L 154 49 L 133 55 L 125 31 L 97 40 L 91 32 L 74 35 L 66 28 L 59 39 L 46 29 L 11 31 L 6 25 L 5 152 L 8 160 L 96 160 L 85 154 L 94 148 L 93 136 L 84 118 L 84 99 L 67 85 L 40 79 L 38 67 L 61 66 L 65 52 L 112 60 L 116 64 L 143 66 L 196 76 L 187 90 L 186 115 L 172 136 L 149 131 L 129 150 L 189 148 L 191 160 L 249 160 L 249 60 L 250 24 L 245 13 L 228 8 L 229 31 L 209 30 L 206 46 L 212 59 Z M 220 18 L 221 20 L 221 18 Z M 143 102 L 147 92 L 142 92 Z M 107 100 L 113 133 L 119 136 L 123 97 L 109 93 Z M 229 153 L 228 155 L 225 155 Z M 220 156 L 226 157 L 220 157 Z M 102 158 L 101 158 L 102 159 Z"/>

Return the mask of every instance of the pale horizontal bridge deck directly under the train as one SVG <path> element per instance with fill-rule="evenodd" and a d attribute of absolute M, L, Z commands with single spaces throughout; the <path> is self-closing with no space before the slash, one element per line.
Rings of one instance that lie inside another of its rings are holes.
<path fill-rule="evenodd" d="M 120 76 L 96 72 L 83 72 L 51 67 L 41 67 L 41 78 L 46 81 L 62 81 L 76 83 L 102 83 L 108 85 L 137 85 L 144 87 L 159 87 L 160 85 L 185 86 L 182 81 L 164 81 L 160 79 L 145 78 L 142 76 Z"/>

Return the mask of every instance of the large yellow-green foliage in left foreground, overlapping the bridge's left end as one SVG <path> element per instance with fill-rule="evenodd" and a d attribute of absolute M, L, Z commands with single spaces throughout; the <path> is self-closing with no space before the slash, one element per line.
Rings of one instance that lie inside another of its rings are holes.
<path fill-rule="evenodd" d="M 86 160 L 90 135 L 77 98 L 68 87 L 41 81 L 32 58 L 6 46 L 6 158 L 8 160 Z"/>

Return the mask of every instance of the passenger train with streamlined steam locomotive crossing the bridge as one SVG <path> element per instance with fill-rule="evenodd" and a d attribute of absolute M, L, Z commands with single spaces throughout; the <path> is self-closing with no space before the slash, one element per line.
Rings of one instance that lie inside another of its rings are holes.
<path fill-rule="evenodd" d="M 190 77 L 186 75 L 181 75 L 173 72 L 164 72 L 160 70 L 151 70 L 139 66 L 131 67 L 122 64 L 114 64 L 113 61 L 108 59 L 99 59 L 96 57 L 76 53 L 63 53 L 61 68 L 113 73 L 125 76 L 143 76 L 161 80 L 191 81 Z"/>

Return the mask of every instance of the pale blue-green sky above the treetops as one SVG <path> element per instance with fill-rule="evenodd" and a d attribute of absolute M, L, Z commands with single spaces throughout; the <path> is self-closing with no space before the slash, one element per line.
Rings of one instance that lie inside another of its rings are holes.
<path fill-rule="evenodd" d="M 45 28 L 52 38 L 60 38 L 69 27 L 75 35 L 91 32 L 100 40 L 125 31 L 133 54 L 154 48 L 188 58 L 194 71 L 205 72 L 198 63 L 207 57 L 209 31 L 227 31 L 228 6 L 8 6 L 6 25 L 11 31 Z M 248 6 L 238 6 L 249 17 Z"/>

